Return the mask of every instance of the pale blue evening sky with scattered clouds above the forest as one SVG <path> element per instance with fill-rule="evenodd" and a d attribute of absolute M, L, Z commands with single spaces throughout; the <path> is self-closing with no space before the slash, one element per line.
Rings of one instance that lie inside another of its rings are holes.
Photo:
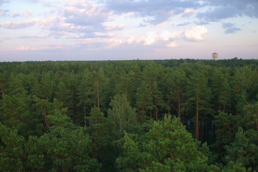
<path fill-rule="evenodd" d="M 258 59 L 258 0 L 0 0 L 0 61 Z"/>

